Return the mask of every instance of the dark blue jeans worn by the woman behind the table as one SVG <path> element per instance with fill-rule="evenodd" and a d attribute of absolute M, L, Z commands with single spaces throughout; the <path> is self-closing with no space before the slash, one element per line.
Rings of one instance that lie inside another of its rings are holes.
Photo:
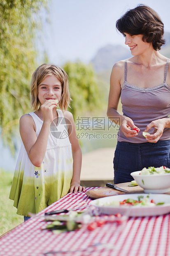
<path fill-rule="evenodd" d="M 156 143 L 117 142 L 114 153 L 114 184 L 130 182 L 133 171 L 149 166 L 170 168 L 170 140 Z"/>

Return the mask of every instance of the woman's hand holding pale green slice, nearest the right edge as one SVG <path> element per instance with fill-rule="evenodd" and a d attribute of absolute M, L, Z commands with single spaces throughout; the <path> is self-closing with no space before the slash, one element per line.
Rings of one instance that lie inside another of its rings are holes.
<path fill-rule="evenodd" d="M 152 134 L 146 135 L 147 136 L 146 140 L 148 142 L 156 143 L 163 134 L 163 130 L 165 128 L 166 122 L 167 120 L 163 118 L 163 119 L 157 119 L 149 123 L 144 131 L 148 132 L 152 127 L 154 127 L 154 131 Z"/>

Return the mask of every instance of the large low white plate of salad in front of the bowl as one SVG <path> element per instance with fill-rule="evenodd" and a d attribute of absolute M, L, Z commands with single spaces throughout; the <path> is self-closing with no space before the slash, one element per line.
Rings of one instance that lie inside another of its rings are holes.
<path fill-rule="evenodd" d="M 98 206 L 97 204 L 97 201 L 105 203 L 109 201 L 123 201 L 128 198 L 132 198 L 138 201 L 138 196 L 144 196 L 145 198 L 147 197 L 147 194 L 120 194 L 117 196 L 102 197 L 91 201 L 91 204 L 98 208 L 100 213 L 107 215 L 121 213 L 122 215 L 127 214 L 128 216 L 155 216 L 167 214 L 170 212 L 169 194 L 149 194 L 149 200 L 153 199 L 156 204 L 158 204 L 159 202 L 164 202 L 164 204 L 158 206 Z"/>

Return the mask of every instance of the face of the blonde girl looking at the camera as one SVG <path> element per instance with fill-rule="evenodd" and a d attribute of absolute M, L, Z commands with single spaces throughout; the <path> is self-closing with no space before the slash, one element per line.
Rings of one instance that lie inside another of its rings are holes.
<path fill-rule="evenodd" d="M 38 85 L 38 99 L 40 106 L 47 100 L 58 100 L 60 102 L 62 94 L 61 82 L 56 76 L 47 76 Z"/>

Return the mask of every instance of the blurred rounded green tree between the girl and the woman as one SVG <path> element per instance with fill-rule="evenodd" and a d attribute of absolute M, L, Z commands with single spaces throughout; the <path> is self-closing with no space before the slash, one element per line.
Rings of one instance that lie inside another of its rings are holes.
<path fill-rule="evenodd" d="M 93 66 L 77 61 L 75 63 L 67 62 L 63 69 L 68 74 L 72 98 L 71 108 L 68 110 L 74 118 L 100 110 L 102 92 L 99 90 Z"/>

